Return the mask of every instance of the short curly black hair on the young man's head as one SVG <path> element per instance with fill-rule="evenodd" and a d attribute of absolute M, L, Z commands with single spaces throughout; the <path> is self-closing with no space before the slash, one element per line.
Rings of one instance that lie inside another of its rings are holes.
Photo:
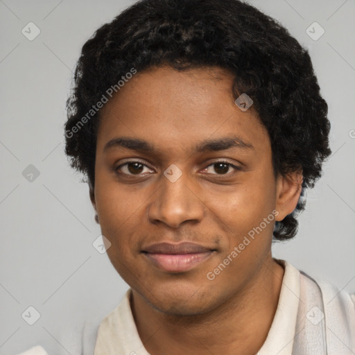
<path fill-rule="evenodd" d="M 273 232 L 274 240 L 293 238 L 304 189 L 314 187 L 331 154 L 328 106 L 308 51 L 277 21 L 238 0 L 141 0 L 98 28 L 83 46 L 67 100 L 65 152 L 71 166 L 92 189 L 101 112 L 96 103 L 132 68 L 166 64 L 176 70 L 227 69 L 234 97 L 252 98 L 270 136 L 275 176 L 303 173 L 295 211 L 277 221 Z"/>

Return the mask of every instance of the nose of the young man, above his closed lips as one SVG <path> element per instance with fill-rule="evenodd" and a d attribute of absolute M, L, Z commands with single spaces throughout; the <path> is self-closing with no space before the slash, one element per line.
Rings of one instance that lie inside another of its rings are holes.
<path fill-rule="evenodd" d="M 165 175 L 159 180 L 159 188 L 148 207 L 151 223 L 164 223 L 176 229 L 188 220 L 196 223 L 202 219 L 202 198 L 198 189 L 188 182 L 186 173 L 182 173 L 175 182 L 168 180 Z"/>

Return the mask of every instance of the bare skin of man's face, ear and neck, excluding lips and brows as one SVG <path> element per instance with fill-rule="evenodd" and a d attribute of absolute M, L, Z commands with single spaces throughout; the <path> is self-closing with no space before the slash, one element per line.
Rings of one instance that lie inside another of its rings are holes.
<path fill-rule="evenodd" d="M 232 76 L 218 67 L 137 73 L 103 107 L 101 118 L 90 196 L 111 243 L 107 255 L 132 288 L 144 347 L 152 355 L 256 354 L 284 275 L 272 259 L 272 230 L 275 220 L 295 209 L 302 173 L 275 178 L 266 128 L 252 107 L 242 112 L 236 106 Z M 193 150 L 205 139 L 232 135 L 254 148 Z M 105 150 L 117 137 L 144 139 L 155 151 Z M 140 170 L 121 166 L 137 159 L 146 164 Z M 220 160 L 240 170 L 218 169 Z M 176 182 L 164 175 L 171 164 L 182 172 Z M 275 209 L 275 220 L 214 280 L 207 279 Z M 215 251 L 189 271 L 166 272 L 141 253 L 162 241 L 192 241 Z"/>

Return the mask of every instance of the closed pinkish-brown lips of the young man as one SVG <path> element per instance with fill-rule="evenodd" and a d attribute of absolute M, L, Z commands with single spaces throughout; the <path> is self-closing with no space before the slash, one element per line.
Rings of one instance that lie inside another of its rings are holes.
<path fill-rule="evenodd" d="M 186 272 L 209 259 L 216 249 L 205 248 L 195 243 L 158 243 L 142 250 L 144 256 L 159 270 Z"/>

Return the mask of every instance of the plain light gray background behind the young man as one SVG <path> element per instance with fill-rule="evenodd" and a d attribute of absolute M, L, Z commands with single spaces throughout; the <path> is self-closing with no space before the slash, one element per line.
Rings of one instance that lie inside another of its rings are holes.
<path fill-rule="evenodd" d="M 69 349 L 60 333 L 103 318 L 128 288 L 92 245 L 100 228 L 87 185 L 64 156 L 62 126 L 81 46 L 130 3 L 0 0 L 0 354 L 37 344 L 49 354 Z M 332 125 L 334 153 L 309 192 L 297 238 L 274 245 L 275 256 L 355 292 L 355 1 L 250 3 L 309 49 Z M 30 21 L 41 31 L 33 41 L 21 33 Z M 316 41 L 306 33 L 314 21 L 325 30 Z M 30 164 L 40 172 L 32 182 L 22 174 Z M 28 306 L 40 313 L 32 326 L 21 317 Z"/>

